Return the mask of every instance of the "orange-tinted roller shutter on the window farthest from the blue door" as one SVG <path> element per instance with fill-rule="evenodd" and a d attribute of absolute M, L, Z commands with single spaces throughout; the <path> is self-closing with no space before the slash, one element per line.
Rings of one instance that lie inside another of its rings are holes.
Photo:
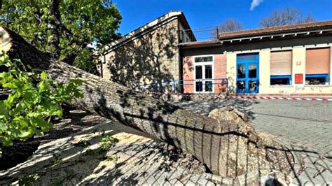
<path fill-rule="evenodd" d="M 307 49 L 305 53 L 306 74 L 321 74 L 330 71 L 330 48 Z"/>

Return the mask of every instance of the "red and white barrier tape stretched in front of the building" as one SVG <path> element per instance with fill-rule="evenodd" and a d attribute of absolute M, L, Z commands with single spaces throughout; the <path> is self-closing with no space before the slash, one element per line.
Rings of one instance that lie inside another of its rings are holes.
<path fill-rule="evenodd" d="M 300 100 L 300 101 L 332 101 L 332 98 L 311 98 L 311 97 L 293 97 L 293 96 L 245 96 L 245 95 L 209 95 L 209 94 L 180 94 L 180 93 L 162 93 L 162 92 L 141 92 L 148 95 L 183 95 L 187 98 L 198 97 L 208 99 L 268 99 L 268 100 Z"/>

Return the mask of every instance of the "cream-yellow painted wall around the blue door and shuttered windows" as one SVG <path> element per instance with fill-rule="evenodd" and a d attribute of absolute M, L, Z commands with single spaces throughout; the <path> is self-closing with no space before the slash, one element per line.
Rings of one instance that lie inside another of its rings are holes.
<path fill-rule="evenodd" d="M 330 57 L 330 85 L 305 85 L 305 50 L 306 48 L 331 47 L 328 45 L 307 45 L 293 48 L 272 50 L 292 50 L 292 85 L 270 86 L 270 51 L 271 49 L 228 52 L 226 59 L 228 90 L 235 93 L 236 87 L 236 55 L 240 53 L 259 52 L 259 94 L 332 94 L 332 49 Z M 303 73 L 303 84 L 295 84 L 295 74 Z"/>

